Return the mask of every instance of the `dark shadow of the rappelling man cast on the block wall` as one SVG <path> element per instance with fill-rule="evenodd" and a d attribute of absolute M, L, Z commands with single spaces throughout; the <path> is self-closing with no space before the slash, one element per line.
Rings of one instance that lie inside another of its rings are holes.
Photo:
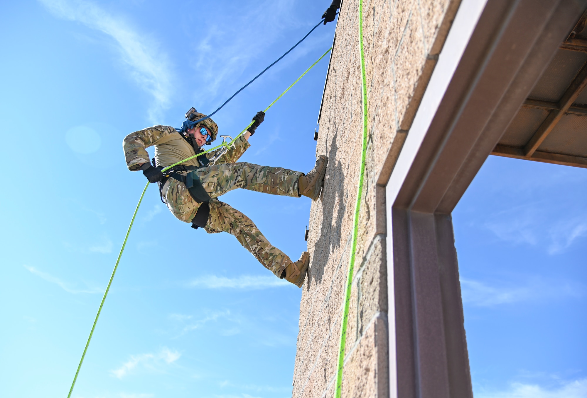
<path fill-rule="evenodd" d="M 312 251 L 310 273 L 316 283 L 322 282 L 324 267 L 328 264 L 330 253 L 333 252 L 333 249 L 340 248 L 340 229 L 342 228 L 342 221 L 346 211 L 346 198 L 344 197 L 345 173 L 342 169 L 342 162 L 336 158 L 338 151 L 338 146 L 336 145 L 337 136 L 338 131 L 332 137 L 332 146 L 327 155 L 328 169 L 326 170 L 321 198 L 322 227 L 320 229 L 320 238 L 314 244 Z M 337 206 L 335 216 L 334 211 Z M 334 225 L 332 223 L 333 219 L 336 220 Z M 309 285 L 309 283 L 306 284 L 306 289 L 309 289 Z"/>

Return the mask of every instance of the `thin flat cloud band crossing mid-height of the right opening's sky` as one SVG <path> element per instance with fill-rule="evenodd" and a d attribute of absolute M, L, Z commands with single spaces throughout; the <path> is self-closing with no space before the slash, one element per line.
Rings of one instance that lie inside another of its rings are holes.
<path fill-rule="evenodd" d="M 461 278 L 463 304 L 477 307 L 492 307 L 519 301 L 543 300 L 544 298 L 579 297 L 585 289 L 571 283 L 546 282 L 539 279 L 525 282 L 522 286 L 507 286 L 504 283 L 490 286 L 484 282 Z"/>

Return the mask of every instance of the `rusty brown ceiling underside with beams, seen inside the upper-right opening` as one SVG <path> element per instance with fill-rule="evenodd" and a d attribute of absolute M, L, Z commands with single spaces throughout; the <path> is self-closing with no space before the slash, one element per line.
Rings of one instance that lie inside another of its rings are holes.
<path fill-rule="evenodd" d="M 528 94 L 492 155 L 587 167 L 587 12 Z"/>

